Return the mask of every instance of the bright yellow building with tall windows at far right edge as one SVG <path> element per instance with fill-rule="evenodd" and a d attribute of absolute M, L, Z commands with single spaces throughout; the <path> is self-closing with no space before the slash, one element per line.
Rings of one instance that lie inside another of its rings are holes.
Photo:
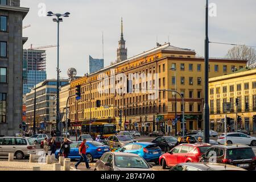
<path fill-rule="evenodd" d="M 230 111 L 223 109 L 224 102 L 230 102 Z M 255 133 L 256 121 L 253 121 L 253 116 L 256 115 L 256 69 L 243 69 L 229 75 L 210 78 L 209 106 L 211 129 L 224 131 L 222 121 L 227 114 L 233 122 L 228 126 L 231 131 L 243 128 Z M 237 115 L 241 117 L 240 122 L 237 122 Z"/>

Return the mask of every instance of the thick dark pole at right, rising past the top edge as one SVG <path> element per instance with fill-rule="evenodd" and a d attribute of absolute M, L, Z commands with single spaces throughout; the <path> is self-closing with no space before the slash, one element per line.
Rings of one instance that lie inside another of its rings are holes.
<path fill-rule="evenodd" d="M 205 77 L 205 86 L 204 86 L 204 142 L 209 143 L 210 140 L 210 126 L 209 126 L 209 38 L 208 38 L 208 0 L 206 0 L 206 6 L 205 6 L 205 47 L 204 47 L 204 55 L 205 55 L 205 60 L 204 60 L 204 77 Z"/>

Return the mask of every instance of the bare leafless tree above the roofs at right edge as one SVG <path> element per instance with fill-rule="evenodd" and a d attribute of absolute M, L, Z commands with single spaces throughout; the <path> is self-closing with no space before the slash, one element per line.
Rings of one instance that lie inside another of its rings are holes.
<path fill-rule="evenodd" d="M 229 49 L 226 57 L 247 60 L 247 65 L 251 65 L 256 62 L 256 50 L 247 46 L 235 46 Z"/>

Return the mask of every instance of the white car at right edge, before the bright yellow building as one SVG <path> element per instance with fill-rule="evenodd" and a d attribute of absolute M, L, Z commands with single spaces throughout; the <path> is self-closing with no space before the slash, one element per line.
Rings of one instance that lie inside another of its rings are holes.
<path fill-rule="evenodd" d="M 220 144 L 225 143 L 225 135 L 221 135 L 218 137 L 217 142 Z M 236 143 L 241 143 L 241 144 L 247 144 L 250 146 L 256 146 L 256 138 L 255 137 L 250 137 L 249 135 L 243 134 L 243 133 L 227 133 L 226 134 L 226 143 L 228 144 L 236 144 Z"/>

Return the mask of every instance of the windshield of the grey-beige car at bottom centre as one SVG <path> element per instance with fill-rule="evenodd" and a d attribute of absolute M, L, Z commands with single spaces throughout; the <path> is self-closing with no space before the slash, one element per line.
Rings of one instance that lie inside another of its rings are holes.
<path fill-rule="evenodd" d="M 147 163 L 139 156 L 115 156 L 115 166 L 120 168 L 148 168 Z"/>

